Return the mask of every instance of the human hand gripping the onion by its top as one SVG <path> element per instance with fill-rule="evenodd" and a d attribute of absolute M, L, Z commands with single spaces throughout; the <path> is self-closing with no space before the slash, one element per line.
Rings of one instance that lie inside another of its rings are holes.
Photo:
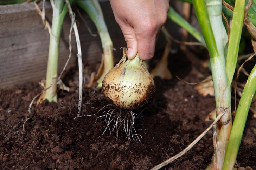
<path fill-rule="evenodd" d="M 167 20 L 169 0 L 110 0 L 111 8 L 127 43 L 128 59 L 139 53 L 152 59 L 156 38 Z"/>

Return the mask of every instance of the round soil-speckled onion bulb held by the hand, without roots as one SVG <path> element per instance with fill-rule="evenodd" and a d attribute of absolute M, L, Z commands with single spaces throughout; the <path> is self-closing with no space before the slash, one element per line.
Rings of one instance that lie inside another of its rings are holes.
<path fill-rule="evenodd" d="M 139 54 L 127 59 L 127 49 L 123 57 L 105 76 L 102 82 L 103 94 L 115 106 L 123 109 L 139 109 L 151 102 L 155 95 L 155 84 L 147 70 L 146 62 Z"/>

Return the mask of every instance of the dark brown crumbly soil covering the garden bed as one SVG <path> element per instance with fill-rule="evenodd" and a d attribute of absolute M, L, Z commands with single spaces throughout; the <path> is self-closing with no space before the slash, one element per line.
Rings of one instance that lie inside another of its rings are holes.
<path fill-rule="evenodd" d="M 89 77 L 91 68 L 95 71 L 96 67 L 85 68 Z M 188 82 L 200 81 L 184 56 L 172 57 L 171 71 Z M 209 75 L 208 70 L 199 71 Z M 101 135 L 104 127 L 100 121 L 95 123 L 100 115 L 97 112 L 109 104 L 101 89 L 83 88 L 82 114 L 92 116 L 74 120 L 78 113 L 77 71 L 70 69 L 63 82 L 71 92 L 60 91 L 58 104 L 32 106 L 31 114 L 28 105 L 41 91 L 37 83 L 0 90 L 0 169 L 150 169 L 200 135 L 211 124 L 205 116 L 215 108 L 214 97 L 199 95 L 193 86 L 177 79 L 156 78 L 156 96 L 135 123 L 143 139 L 141 143 L 128 141 L 126 137 Z M 30 118 L 27 122 L 26 117 Z M 256 120 L 250 113 L 238 163 L 256 169 L 255 150 Z M 162 169 L 205 169 L 212 155 L 210 131 L 188 153 Z"/>

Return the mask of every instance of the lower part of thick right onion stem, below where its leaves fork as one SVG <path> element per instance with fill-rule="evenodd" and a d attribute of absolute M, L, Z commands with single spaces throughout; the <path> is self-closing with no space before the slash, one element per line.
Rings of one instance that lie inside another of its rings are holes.
<path fill-rule="evenodd" d="M 216 115 L 226 112 L 218 121 L 216 131 L 213 132 L 214 153 L 211 164 L 207 169 L 222 170 L 225 150 L 228 145 L 232 127 L 231 121 L 231 91 L 226 77 L 225 59 L 217 56 L 210 58 L 213 87 L 216 101 Z"/>

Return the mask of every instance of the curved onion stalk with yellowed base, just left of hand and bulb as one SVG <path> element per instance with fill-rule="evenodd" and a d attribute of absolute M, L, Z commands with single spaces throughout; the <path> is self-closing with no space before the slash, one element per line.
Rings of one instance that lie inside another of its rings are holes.
<path fill-rule="evenodd" d="M 91 83 L 89 84 L 90 86 L 97 81 L 98 87 L 101 87 L 105 75 L 114 67 L 113 43 L 110 38 L 107 25 L 104 21 L 100 3 L 97 0 L 76 0 L 76 4 L 87 12 L 91 20 L 94 22 L 101 38 L 103 48 L 102 63 L 98 69 L 97 75 L 93 77 L 93 80 L 91 80 Z"/>

